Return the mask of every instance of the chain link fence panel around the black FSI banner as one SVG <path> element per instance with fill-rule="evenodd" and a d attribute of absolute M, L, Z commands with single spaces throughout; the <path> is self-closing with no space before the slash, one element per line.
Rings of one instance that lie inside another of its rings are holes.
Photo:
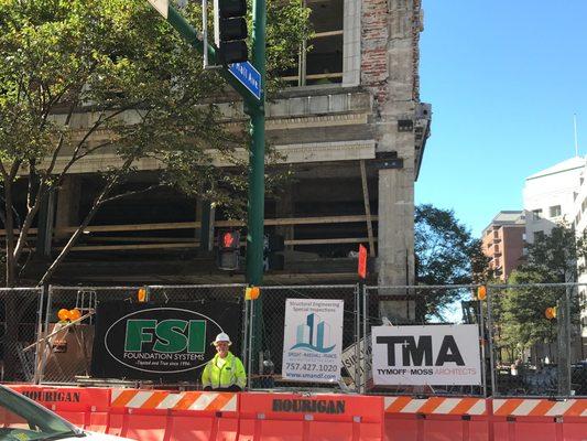
<path fill-rule="evenodd" d="M 96 333 L 96 311 L 100 305 L 115 302 L 128 305 L 144 302 L 146 305 L 185 306 L 198 311 L 204 305 L 214 308 L 232 304 L 239 312 L 236 329 L 243 335 L 243 284 L 228 286 L 151 286 L 151 287 L 50 287 L 46 303 L 43 341 L 40 352 L 40 381 L 45 384 L 95 383 L 91 378 L 91 359 Z M 144 299 L 140 299 L 140 295 Z M 68 326 L 59 320 L 59 311 L 77 310 L 87 316 L 79 324 Z M 242 354 L 243 337 L 233 335 L 232 351 Z M 124 378 L 122 378 L 124 379 Z M 116 379 L 111 379 L 116 380 Z M 157 380 L 156 378 L 154 380 Z M 162 383 L 162 379 L 159 379 Z M 197 385 L 199 378 L 194 376 Z M 137 381 L 150 384 L 153 380 Z"/>

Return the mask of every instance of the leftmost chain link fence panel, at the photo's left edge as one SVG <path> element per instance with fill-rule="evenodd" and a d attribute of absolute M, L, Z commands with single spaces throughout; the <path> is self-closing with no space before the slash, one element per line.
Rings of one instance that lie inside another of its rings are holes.
<path fill-rule="evenodd" d="M 0 379 L 33 381 L 43 291 L 0 289 Z M 32 346 L 31 346 L 32 345 Z"/>

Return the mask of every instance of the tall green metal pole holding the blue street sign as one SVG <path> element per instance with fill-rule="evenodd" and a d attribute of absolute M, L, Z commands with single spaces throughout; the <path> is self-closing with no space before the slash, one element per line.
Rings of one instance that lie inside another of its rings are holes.
<path fill-rule="evenodd" d="M 265 86 L 265 0 L 253 1 L 252 65 L 261 74 Z M 258 106 L 250 106 L 251 149 L 249 152 L 249 209 L 247 234 L 247 282 L 259 286 L 263 281 L 263 228 L 264 228 L 264 159 L 265 159 L 265 94 Z"/>

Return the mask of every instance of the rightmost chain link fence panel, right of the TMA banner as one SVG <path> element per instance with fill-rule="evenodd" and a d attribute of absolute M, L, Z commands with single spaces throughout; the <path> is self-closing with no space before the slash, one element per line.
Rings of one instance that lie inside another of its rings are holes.
<path fill-rule="evenodd" d="M 488 287 L 494 396 L 587 396 L 577 283 Z"/>

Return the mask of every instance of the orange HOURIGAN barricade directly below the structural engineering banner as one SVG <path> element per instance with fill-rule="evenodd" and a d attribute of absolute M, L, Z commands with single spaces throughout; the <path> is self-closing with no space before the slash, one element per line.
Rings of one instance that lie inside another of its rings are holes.
<path fill-rule="evenodd" d="M 241 394 L 238 441 L 382 440 L 382 398 Z"/>

